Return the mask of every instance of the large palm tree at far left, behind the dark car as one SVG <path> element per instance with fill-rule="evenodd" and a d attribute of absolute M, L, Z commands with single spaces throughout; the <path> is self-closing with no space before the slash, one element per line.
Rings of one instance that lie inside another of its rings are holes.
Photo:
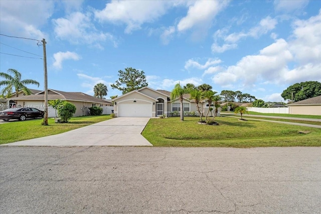
<path fill-rule="evenodd" d="M 37 82 L 36 80 L 31 80 L 31 79 L 26 79 L 26 80 L 21 80 L 21 73 L 19 73 L 15 69 L 9 69 L 8 73 L 3 73 L 0 72 L 0 77 L 6 79 L 0 81 L 0 86 L 6 86 L 3 90 L 1 90 L 1 94 L 9 98 L 14 92 L 13 89 L 16 92 L 16 97 L 18 97 L 19 91 L 25 92 L 27 95 L 31 94 L 31 91 L 27 88 L 26 85 L 37 85 L 39 87 L 40 83 Z"/>

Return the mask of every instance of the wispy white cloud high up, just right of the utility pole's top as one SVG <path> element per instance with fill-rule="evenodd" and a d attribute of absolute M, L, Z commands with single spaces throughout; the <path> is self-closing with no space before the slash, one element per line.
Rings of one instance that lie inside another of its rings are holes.
<path fill-rule="evenodd" d="M 56 37 L 72 44 L 89 44 L 103 49 L 100 42 L 110 41 L 117 47 L 115 38 L 109 33 L 98 32 L 92 23 L 89 13 L 72 13 L 67 18 L 53 20 Z"/>

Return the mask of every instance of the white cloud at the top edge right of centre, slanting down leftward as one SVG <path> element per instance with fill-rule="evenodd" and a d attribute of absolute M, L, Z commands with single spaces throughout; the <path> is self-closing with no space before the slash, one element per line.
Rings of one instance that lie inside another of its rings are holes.
<path fill-rule="evenodd" d="M 228 3 L 228 1 L 196 1 L 193 6 L 189 7 L 187 16 L 182 18 L 177 25 L 177 30 L 186 31 L 193 27 L 208 26 Z"/>

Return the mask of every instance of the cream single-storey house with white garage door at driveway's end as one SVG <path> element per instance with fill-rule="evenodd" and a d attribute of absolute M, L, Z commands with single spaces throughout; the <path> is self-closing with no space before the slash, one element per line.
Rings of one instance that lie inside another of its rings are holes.
<path fill-rule="evenodd" d="M 190 95 L 183 96 L 183 111 L 197 112 L 194 100 L 190 100 Z M 113 99 L 114 113 L 116 117 L 158 117 L 161 115 L 170 116 L 171 112 L 181 111 L 180 99 L 171 101 L 171 92 L 166 90 L 154 90 L 143 87 L 123 94 Z M 199 104 L 201 112 L 206 112 L 208 106 L 202 102 Z M 207 108 L 207 109 L 206 109 Z"/>

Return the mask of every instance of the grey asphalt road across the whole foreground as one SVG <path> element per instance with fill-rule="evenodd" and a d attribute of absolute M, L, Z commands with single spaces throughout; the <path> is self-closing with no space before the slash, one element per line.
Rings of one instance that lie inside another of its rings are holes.
<path fill-rule="evenodd" d="M 321 213 L 321 147 L 0 147 L 0 213 Z"/>

